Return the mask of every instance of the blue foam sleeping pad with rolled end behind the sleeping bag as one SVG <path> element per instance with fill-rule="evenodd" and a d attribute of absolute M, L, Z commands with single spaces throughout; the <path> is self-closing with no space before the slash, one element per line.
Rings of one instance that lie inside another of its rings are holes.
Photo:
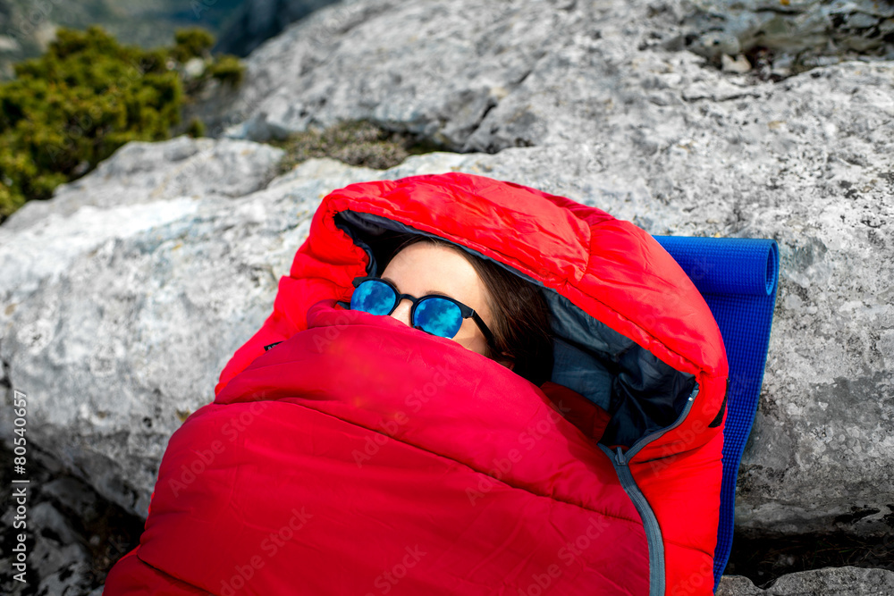
<path fill-rule="evenodd" d="M 772 239 L 655 236 L 708 303 L 730 363 L 727 419 L 723 430 L 721 516 L 714 550 L 714 591 L 732 548 L 736 479 L 742 451 L 755 421 L 767 359 L 779 247 Z"/>

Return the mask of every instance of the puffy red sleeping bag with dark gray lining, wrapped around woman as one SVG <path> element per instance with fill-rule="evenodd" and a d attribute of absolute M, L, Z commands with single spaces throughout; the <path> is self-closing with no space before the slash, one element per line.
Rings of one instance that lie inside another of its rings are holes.
<path fill-rule="evenodd" d="M 552 382 L 336 304 L 408 231 L 542 288 Z M 704 300 L 629 222 L 468 174 L 350 185 L 174 432 L 104 593 L 710 594 L 726 375 Z"/>

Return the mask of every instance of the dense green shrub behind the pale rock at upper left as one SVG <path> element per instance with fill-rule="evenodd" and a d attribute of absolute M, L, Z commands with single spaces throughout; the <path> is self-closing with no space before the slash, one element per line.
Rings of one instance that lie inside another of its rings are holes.
<path fill-rule="evenodd" d="M 201 29 L 175 37 L 173 47 L 146 50 L 123 46 L 98 27 L 58 29 L 45 55 L 15 65 L 16 78 L 0 84 L 0 222 L 124 143 L 170 137 L 189 99 L 178 64 L 208 60 L 214 44 Z M 241 68 L 222 56 L 190 81 L 189 92 L 212 77 L 238 84 Z M 192 134 L 203 132 L 200 122 L 190 126 Z"/>

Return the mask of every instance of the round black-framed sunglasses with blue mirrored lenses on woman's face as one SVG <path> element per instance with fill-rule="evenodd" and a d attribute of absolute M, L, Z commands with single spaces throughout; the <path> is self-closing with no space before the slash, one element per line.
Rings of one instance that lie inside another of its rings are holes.
<path fill-rule="evenodd" d="M 493 348 L 493 334 L 481 317 L 459 300 L 429 294 L 421 298 L 401 294 L 394 285 L 378 277 L 358 277 L 353 281 L 354 294 L 350 297 L 351 310 L 370 315 L 391 315 L 404 298 L 412 301 L 409 320 L 414 329 L 443 338 L 452 338 L 460 331 L 463 319 L 472 318 L 485 334 L 487 345 Z"/>

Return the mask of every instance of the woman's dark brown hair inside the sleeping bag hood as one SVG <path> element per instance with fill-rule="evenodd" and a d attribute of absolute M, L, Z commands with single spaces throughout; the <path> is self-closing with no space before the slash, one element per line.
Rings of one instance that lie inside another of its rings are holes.
<path fill-rule="evenodd" d="M 495 354 L 488 353 L 486 356 L 493 360 L 508 357 L 515 363 L 512 371 L 537 387 L 549 381 L 552 377 L 550 309 L 541 291 L 501 265 L 442 239 L 418 234 L 410 236 L 399 244 L 392 256 L 417 242 L 458 251 L 484 282 L 487 306 L 493 313 L 493 322 L 488 327 L 493 333 L 496 348 Z M 489 346 L 488 352 L 491 352 Z"/>

